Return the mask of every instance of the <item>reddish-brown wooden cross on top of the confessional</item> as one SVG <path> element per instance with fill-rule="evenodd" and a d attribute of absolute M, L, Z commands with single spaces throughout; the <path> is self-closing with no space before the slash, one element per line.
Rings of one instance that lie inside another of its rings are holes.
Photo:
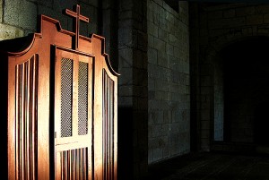
<path fill-rule="evenodd" d="M 65 9 L 65 13 L 75 18 L 75 50 L 78 50 L 79 37 L 80 37 L 80 20 L 89 22 L 89 18 L 82 16 L 81 6 L 76 5 L 76 12 L 73 12 L 69 9 Z"/>

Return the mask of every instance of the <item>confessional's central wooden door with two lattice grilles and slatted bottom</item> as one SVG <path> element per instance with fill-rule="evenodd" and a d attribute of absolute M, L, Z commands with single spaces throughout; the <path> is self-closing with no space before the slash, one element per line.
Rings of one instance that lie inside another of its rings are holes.
<path fill-rule="evenodd" d="M 93 56 L 56 47 L 56 180 L 92 178 Z"/>

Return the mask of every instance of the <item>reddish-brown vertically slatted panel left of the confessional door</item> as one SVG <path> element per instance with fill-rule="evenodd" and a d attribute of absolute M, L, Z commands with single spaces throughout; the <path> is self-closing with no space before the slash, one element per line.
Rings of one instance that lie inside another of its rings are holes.
<path fill-rule="evenodd" d="M 14 179 L 37 179 L 38 65 L 38 55 L 15 65 Z"/>

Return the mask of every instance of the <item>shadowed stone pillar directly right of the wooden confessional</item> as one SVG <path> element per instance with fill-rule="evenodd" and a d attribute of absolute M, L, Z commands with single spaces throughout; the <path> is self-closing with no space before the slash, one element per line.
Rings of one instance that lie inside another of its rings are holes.
<path fill-rule="evenodd" d="M 118 4 L 119 179 L 141 179 L 148 167 L 146 5 L 145 0 Z"/>

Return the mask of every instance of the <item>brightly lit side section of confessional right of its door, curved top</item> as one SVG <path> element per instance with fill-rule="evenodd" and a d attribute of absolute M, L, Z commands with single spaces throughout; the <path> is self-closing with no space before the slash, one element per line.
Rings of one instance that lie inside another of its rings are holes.
<path fill-rule="evenodd" d="M 92 39 L 94 61 L 94 179 L 117 180 L 117 76 Z"/>

